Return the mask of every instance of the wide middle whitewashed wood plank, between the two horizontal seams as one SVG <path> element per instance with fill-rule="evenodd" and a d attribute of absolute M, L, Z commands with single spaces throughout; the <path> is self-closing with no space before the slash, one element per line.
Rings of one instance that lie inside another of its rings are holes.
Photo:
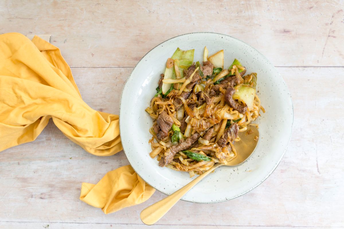
<path fill-rule="evenodd" d="M 275 172 L 255 190 L 231 201 L 179 202 L 158 224 L 343 227 L 344 90 L 336 87 L 344 84 L 343 69 L 278 68 L 293 98 L 295 121 L 290 145 Z M 113 113 L 119 111 L 121 88 L 131 70 L 72 69 L 84 100 Z M 126 164 L 123 152 L 111 157 L 86 153 L 50 123 L 34 142 L 0 152 L 0 221 L 137 228 L 142 224 L 140 211 L 165 195 L 156 192 L 147 202 L 110 215 L 79 201 L 81 182 L 95 183 L 107 171 Z"/>

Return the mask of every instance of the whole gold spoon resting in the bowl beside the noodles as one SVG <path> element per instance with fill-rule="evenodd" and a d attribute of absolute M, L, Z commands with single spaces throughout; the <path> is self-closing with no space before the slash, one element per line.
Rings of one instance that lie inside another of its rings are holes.
<path fill-rule="evenodd" d="M 143 209 L 140 214 L 142 222 L 147 225 L 152 225 L 157 222 L 179 201 L 180 198 L 182 198 L 182 196 L 185 195 L 185 193 L 187 193 L 193 186 L 195 186 L 217 167 L 220 167 L 221 165 L 236 166 L 246 161 L 246 159 L 251 156 L 252 152 L 257 146 L 259 138 L 258 129 L 254 126 L 248 126 L 245 132 L 239 133 L 239 137 L 241 140 L 235 142 L 235 149 L 238 154 L 233 160 L 226 163 L 216 163 L 213 168 L 199 175 L 196 179 L 182 187 L 180 190 Z"/>

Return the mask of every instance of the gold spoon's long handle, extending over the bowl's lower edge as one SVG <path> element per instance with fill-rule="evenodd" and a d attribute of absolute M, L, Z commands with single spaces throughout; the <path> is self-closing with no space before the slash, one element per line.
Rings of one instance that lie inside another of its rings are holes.
<path fill-rule="evenodd" d="M 189 184 L 182 187 L 180 190 L 174 192 L 173 194 L 165 197 L 161 201 L 143 209 L 140 214 L 140 218 L 144 224 L 152 225 L 157 222 L 161 217 L 163 217 L 178 201 L 182 198 L 185 193 L 187 193 L 193 186 L 200 182 L 206 175 L 211 173 L 214 169 L 222 165 L 217 163 L 213 168 L 199 175 L 196 179 L 191 181 Z"/>

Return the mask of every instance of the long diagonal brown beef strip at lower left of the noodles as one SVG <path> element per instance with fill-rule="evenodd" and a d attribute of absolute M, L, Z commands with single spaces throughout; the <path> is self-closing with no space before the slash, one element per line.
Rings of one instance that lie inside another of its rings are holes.
<path fill-rule="evenodd" d="M 189 149 L 193 144 L 195 144 L 195 142 L 198 140 L 199 137 L 200 137 L 200 134 L 198 134 L 196 132 L 191 137 L 186 138 L 185 141 L 182 141 L 182 142 L 179 141 L 178 145 L 175 145 L 175 146 L 172 146 L 171 148 L 168 148 L 165 151 L 164 156 L 159 161 L 159 166 L 164 167 L 167 164 L 171 163 L 171 161 L 173 160 L 174 155 L 177 152 Z"/>

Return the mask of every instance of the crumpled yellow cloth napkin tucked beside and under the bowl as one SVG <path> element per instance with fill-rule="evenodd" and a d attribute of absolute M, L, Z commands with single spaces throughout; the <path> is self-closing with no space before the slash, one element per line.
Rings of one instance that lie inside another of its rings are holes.
<path fill-rule="evenodd" d="M 50 118 L 87 152 L 122 150 L 118 115 L 98 112 L 81 98 L 60 49 L 35 36 L 0 35 L 0 151 L 30 142 Z M 140 204 L 153 193 L 130 165 L 108 172 L 96 185 L 83 183 L 80 199 L 111 213 Z"/>

